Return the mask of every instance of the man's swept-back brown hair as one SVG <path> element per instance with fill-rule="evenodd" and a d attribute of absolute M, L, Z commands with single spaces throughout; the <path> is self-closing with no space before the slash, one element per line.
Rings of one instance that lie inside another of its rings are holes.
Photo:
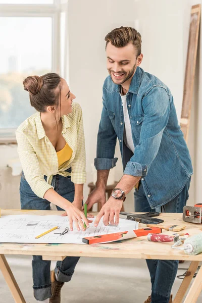
<path fill-rule="evenodd" d="M 121 26 L 113 29 L 109 34 L 107 34 L 105 41 L 107 41 L 106 48 L 109 42 L 111 42 L 115 47 L 124 47 L 131 42 L 137 50 L 137 56 L 141 54 L 141 35 L 132 27 Z"/>

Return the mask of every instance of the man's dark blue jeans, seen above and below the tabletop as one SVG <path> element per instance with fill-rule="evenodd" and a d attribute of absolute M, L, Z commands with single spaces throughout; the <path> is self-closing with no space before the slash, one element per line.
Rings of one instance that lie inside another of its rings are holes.
<path fill-rule="evenodd" d="M 158 207 L 155 210 L 162 213 L 182 213 L 183 207 L 189 197 L 188 190 L 190 180 L 186 183 L 182 191 L 169 203 Z M 172 186 L 172 184 L 171 184 Z M 142 184 L 134 192 L 135 212 L 154 211 L 149 207 Z M 158 225 L 157 225 L 158 226 Z M 177 274 L 178 261 L 174 260 L 146 260 L 151 278 L 151 302 L 169 303 L 171 289 Z"/>

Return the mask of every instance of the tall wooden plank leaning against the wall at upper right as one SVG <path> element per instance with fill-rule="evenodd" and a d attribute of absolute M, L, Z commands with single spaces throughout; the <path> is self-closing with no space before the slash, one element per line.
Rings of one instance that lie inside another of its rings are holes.
<path fill-rule="evenodd" d="M 193 98 L 193 84 L 195 77 L 196 56 L 198 47 L 198 33 L 200 25 L 200 5 L 192 6 L 189 27 L 189 40 L 187 48 L 186 69 L 180 126 L 184 139 L 188 140 L 188 130 L 191 116 L 191 103 Z"/>

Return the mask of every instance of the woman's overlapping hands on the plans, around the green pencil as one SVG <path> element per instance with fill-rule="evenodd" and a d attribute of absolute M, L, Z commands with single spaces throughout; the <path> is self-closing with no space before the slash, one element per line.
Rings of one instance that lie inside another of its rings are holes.
<path fill-rule="evenodd" d="M 85 231 L 83 221 L 85 222 L 87 228 L 89 227 L 89 223 L 92 222 L 92 220 L 88 220 L 84 213 L 81 211 L 81 203 L 78 203 L 77 201 L 73 201 L 73 203 L 70 203 L 70 205 L 65 209 L 65 213 L 62 214 L 62 216 L 68 216 L 69 223 L 70 223 L 70 230 L 73 230 L 73 222 L 76 225 L 76 228 L 78 230 L 82 229 Z M 94 216 L 87 214 L 87 217 L 93 218 Z M 83 220 L 83 221 L 82 221 Z"/>

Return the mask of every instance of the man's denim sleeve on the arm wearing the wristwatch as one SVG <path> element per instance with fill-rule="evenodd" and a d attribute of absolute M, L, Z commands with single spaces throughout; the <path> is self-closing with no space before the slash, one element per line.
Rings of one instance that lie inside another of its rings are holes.
<path fill-rule="evenodd" d="M 127 163 L 124 174 L 145 176 L 156 158 L 163 132 L 167 126 L 171 103 L 170 96 L 162 87 L 154 87 L 142 99 L 144 119 L 139 144 Z"/>

